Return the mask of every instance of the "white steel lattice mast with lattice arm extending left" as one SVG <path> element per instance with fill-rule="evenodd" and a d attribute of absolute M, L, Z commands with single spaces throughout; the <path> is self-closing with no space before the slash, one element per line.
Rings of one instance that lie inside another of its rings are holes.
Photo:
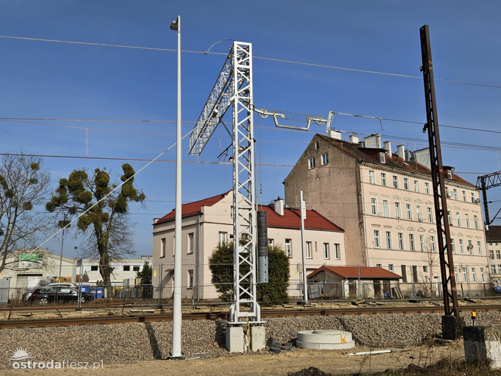
<path fill-rule="evenodd" d="M 256 202 L 253 128 L 252 45 L 233 42 L 229 55 L 190 137 L 199 155 L 232 106 L 233 120 L 233 299 L 229 322 L 261 322 L 256 297 Z"/>

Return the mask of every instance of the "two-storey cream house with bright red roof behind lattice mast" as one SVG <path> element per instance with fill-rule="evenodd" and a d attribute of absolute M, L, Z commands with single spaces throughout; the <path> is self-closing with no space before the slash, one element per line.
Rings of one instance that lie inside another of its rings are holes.
<path fill-rule="evenodd" d="M 217 299 L 211 283 L 208 258 L 218 243 L 232 238 L 232 191 L 182 206 L 182 296 L 183 299 Z M 300 211 L 275 204 L 258 206 L 267 212 L 268 242 L 280 245 L 290 257 L 290 296 L 300 293 L 302 268 Z M 174 269 L 175 210 L 153 223 L 153 285 L 161 278 L 162 298 L 172 295 Z M 344 230 L 315 210 L 305 220 L 306 265 L 310 273 L 322 265 L 346 265 Z M 231 265 L 221 265 L 231 268 Z M 158 290 L 156 291 L 158 297 Z"/>

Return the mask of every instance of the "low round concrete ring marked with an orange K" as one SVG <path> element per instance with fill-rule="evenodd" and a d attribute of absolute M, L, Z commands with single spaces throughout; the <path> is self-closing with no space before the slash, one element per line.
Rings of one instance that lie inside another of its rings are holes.
<path fill-rule="evenodd" d="M 355 347 L 349 331 L 341 330 L 304 330 L 298 332 L 296 345 L 312 350 L 336 350 Z"/>

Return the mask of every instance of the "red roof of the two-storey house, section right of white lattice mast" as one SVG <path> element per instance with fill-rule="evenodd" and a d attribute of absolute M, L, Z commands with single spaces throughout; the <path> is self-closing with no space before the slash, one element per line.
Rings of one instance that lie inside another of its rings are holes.
<path fill-rule="evenodd" d="M 284 208 L 283 216 L 278 214 L 273 206 L 269 205 L 259 205 L 258 210 L 266 211 L 268 227 L 286 229 L 301 228 L 301 213 L 299 209 Z M 306 211 L 305 229 L 344 232 L 341 227 L 335 225 L 314 210 Z"/>

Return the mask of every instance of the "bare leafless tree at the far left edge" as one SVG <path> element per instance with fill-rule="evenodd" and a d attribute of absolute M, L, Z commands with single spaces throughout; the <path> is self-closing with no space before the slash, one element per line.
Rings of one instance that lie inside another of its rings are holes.
<path fill-rule="evenodd" d="M 50 192 L 50 172 L 42 163 L 28 155 L 0 160 L 0 273 L 19 268 L 16 249 L 35 247 L 38 236 L 51 227 L 51 217 L 37 210 Z"/>

